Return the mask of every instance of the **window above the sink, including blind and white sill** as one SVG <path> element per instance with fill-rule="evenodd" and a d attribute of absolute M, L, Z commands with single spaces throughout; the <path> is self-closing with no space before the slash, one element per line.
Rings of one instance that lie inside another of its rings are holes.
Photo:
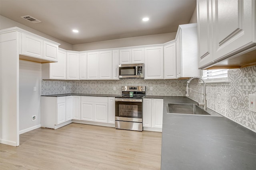
<path fill-rule="evenodd" d="M 228 69 L 203 70 L 206 82 L 228 82 Z"/>

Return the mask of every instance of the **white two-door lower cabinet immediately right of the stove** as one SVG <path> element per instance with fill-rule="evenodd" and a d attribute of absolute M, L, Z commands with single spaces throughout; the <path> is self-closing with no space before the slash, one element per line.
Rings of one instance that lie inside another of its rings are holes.
<path fill-rule="evenodd" d="M 163 106 L 164 106 L 163 99 L 157 99 L 157 98 L 143 99 L 144 130 L 162 131 Z"/>

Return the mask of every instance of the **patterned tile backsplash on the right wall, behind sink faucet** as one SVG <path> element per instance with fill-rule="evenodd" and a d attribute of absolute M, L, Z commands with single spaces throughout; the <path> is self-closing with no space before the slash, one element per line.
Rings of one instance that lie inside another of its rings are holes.
<path fill-rule="evenodd" d="M 207 107 L 256 132 L 256 113 L 248 110 L 248 94 L 256 94 L 256 66 L 228 71 L 230 83 L 206 84 Z M 194 79 L 189 88 L 203 92 Z M 202 102 L 203 96 L 188 92 L 189 98 Z"/>

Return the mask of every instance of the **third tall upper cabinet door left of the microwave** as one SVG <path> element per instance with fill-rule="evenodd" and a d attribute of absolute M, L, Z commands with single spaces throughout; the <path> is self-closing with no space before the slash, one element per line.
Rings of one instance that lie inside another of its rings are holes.
<path fill-rule="evenodd" d="M 87 80 L 99 79 L 99 52 L 87 53 Z"/>

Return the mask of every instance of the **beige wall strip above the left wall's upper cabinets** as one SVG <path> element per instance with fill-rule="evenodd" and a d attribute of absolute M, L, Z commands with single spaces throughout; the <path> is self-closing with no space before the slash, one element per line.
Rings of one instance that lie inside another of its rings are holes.
<path fill-rule="evenodd" d="M 30 31 L 36 35 L 40 35 L 44 38 L 50 39 L 52 41 L 55 41 L 57 43 L 60 43 L 60 48 L 66 49 L 66 50 L 72 50 L 72 45 L 70 43 L 66 43 L 64 41 L 61 41 L 60 39 L 56 39 L 50 35 L 47 35 L 45 33 L 42 33 L 40 31 L 37 31 L 35 29 L 32 29 L 30 27 L 27 27 L 26 25 L 23 25 L 21 23 L 18 23 L 14 20 L 10 20 L 9 18 L 6 18 L 4 16 L 0 16 L 0 29 L 6 29 L 6 28 L 11 28 L 11 27 L 19 27 L 21 29 L 24 29 L 26 31 Z"/>

